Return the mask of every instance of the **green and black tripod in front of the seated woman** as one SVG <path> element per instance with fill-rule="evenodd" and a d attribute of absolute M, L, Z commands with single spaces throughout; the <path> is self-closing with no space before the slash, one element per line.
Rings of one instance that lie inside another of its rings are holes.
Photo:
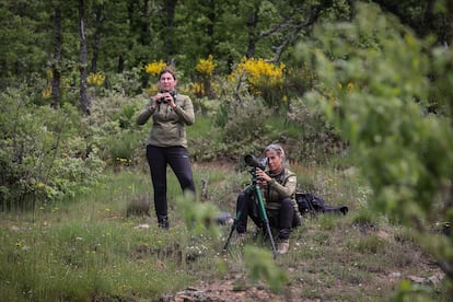
<path fill-rule="evenodd" d="M 254 166 L 251 170 L 252 185 L 246 188 L 245 193 L 247 195 L 252 194 L 252 198 L 249 200 L 246 200 L 246 201 L 253 201 L 253 202 L 258 204 L 258 216 L 259 216 L 259 219 L 262 220 L 263 226 L 266 228 L 267 236 L 269 237 L 270 244 L 272 246 L 274 259 L 275 259 L 277 257 L 277 248 L 276 248 L 276 244 L 274 242 L 272 232 L 270 231 L 269 219 L 267 218 L 266 209 L 264 207 L 262 191 L 260 191 L 259 186 L 257 184 L 256 167 L 257 166 Z M 236 228 L 237 228 L 239 220 L 241 219 L 241 216 L 243 213 L 243 208 L 247 206 L 246 204 L 247 202 L 243 202 L 242 206 L 241 206 L 241 209 L 237 211 L 236 219 L 234 219 L 234 223 L 231 226 L 230 234 L 226 239 L 225 245 L 223 246 L 223 252 L 228 251 L 228 246 L 230 244 L 231 236 L 233 235 L 234 230 L 236 230 Z"/>

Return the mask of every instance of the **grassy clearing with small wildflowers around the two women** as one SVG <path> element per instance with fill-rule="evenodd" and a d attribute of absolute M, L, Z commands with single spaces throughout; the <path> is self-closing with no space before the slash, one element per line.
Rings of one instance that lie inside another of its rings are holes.
<path fill-rule="evenodd" d="M 0 300 L 155 301 L 190 286 L 212 290 L 228 280 L 228 294 L 245 301 L 260 300 L 239 295 L 256 291 L 275 301 L 386 301 L 402 291 L 406 299 L 417 293 L 423 300 L 449 300 L 446 281 L 400 289 L 411 276 L 428 280 L 440 270 L 410 230 L 367 210 L 368 190 L 353 174 L 303 165 L 294 171 L 328 205 L 347 205 L 350 212 L 306 218 L 291 235 L 290 252 L 275 262 L 269 243 L 252 235 L 239 245 L 233 234 L 229 252 L 221 253 L 230 226 L 204 220 L 204 228 L 188 229 L 184 221 L 191 204 L 185 202 L 191 201 L 179 200 L 172 173 L 173 228 L 167 231 L 156 228 L 153 210 L 151 218 L 126 217 L 135 196 L 152 196 L 148 173 L 132 167 L 107 174 L 72 200 L 35 212 L 1 212 Z M 204 201 L 194 204 L 197 212 L 209 205 L 233 213 L 249 175 L 199 163 L 194 173 L 197 187 L 201 179 L 208 184 Z"/>

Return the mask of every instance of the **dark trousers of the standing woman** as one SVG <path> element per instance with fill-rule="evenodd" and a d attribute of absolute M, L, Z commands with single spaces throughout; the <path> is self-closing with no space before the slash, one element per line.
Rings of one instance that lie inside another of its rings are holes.
<path fill-rule="evenodd" d="M 172 167 L 183 191 L 190 190 L 195 195 L 190 159 L 187 149 L 184 147 L 154 147 L 150 144 L 147 146 L 147 159 L 154 189 L 155 214 L 160 223 L 166 223 L 169 216 L 166 166 L 170 165 Z"/>

